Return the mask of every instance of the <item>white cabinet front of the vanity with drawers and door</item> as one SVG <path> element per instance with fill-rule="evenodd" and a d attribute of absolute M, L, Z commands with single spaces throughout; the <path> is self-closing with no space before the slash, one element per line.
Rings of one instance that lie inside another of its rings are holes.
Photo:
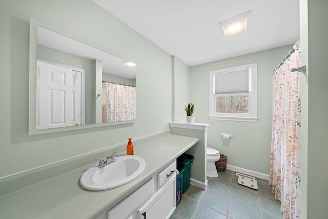
<path fill-rule="evenodd" d="M 176 208 L 176 162 L 98 219 L 169 218 Z"/>

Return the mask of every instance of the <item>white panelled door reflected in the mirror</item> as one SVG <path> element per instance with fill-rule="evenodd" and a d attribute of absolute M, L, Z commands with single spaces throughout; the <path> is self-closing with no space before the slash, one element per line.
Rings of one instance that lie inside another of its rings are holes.
<path fill-rule="evenodd" d="M 37 61 L 36 129 L 84 125 L 81 71 Z"/>

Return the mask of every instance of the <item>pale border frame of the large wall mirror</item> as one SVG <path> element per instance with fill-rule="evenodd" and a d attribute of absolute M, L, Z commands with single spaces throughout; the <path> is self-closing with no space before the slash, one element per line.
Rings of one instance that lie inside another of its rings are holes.
<path fill-rule="evenodd" d="M 60 127 L 60 128 L 50 128 L 50 129 L 36 129 L 36 59 L 37 59 L 37 27 L 43 27 L 53 32 L 59 33 L 75 41 L 80 43 L 86 44 L 88 46 L 94 47 L 99 49 L 92 44 L 85 42 L 76 36 L 72 36 L 64 31 L 59 29 L 53 28 L 47 24 L 37 21 L 36 19 L 30 18 L 30 54 L 29 54 L 29 135 L 36 135 L 36 134 L 46 134 L 46 133 L 55 133 L 55 132 L 63 132 L 63 131 L 73 131 L 79 129 L 89 129 L 89 128 L 96 128 L 96 127 L 105 127 L 105 126 L 117 126 L 121 124 L 129 124 L 135 123 L 136 120 L 130 121 L 120 121 L 120 122 L 112 122 L 112 123 L 95 123 L 95 124 L 87 124 L 83 126 L 70 126 L 70 127 Z M 99 49 L 101 50 L 101 49 Z M 104 50 L 101 50 L 104 51 Z M 107 51 L 104 51 L 107 52 Z M 112 54 L 111 52 L 107 52 Z M 112 54 L 115 55 L 115 54 Z M 117 56 L 117 55 L 115 55 Z M 119 56 L 117 56 L 119 57 Z M 128 60 L 128 58 L 123 58 Z M 100 82 L 101 85 L 101 82 Z M 96 92 L 94 93 L 96 96 Z"/>

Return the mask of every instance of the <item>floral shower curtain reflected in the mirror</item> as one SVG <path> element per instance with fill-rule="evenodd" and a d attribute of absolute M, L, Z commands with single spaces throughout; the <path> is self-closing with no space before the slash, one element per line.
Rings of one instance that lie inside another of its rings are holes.
<path fill-rule="evenodd" d="M 106 86 L 107 122 L 135 120 L 136 88 L 110 82 Z"/>

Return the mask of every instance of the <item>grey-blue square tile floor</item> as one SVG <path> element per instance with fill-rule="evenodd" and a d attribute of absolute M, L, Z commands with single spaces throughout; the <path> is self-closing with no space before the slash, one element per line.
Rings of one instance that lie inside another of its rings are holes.
<path fill-rule="evenodd" d="M 268 181 L 256 180 L 258 190 L 241 186 L 236 172 L 227 170 L 209 177 L 206 191 L 190 185 L 170 219 L 281 219 Z"/>

